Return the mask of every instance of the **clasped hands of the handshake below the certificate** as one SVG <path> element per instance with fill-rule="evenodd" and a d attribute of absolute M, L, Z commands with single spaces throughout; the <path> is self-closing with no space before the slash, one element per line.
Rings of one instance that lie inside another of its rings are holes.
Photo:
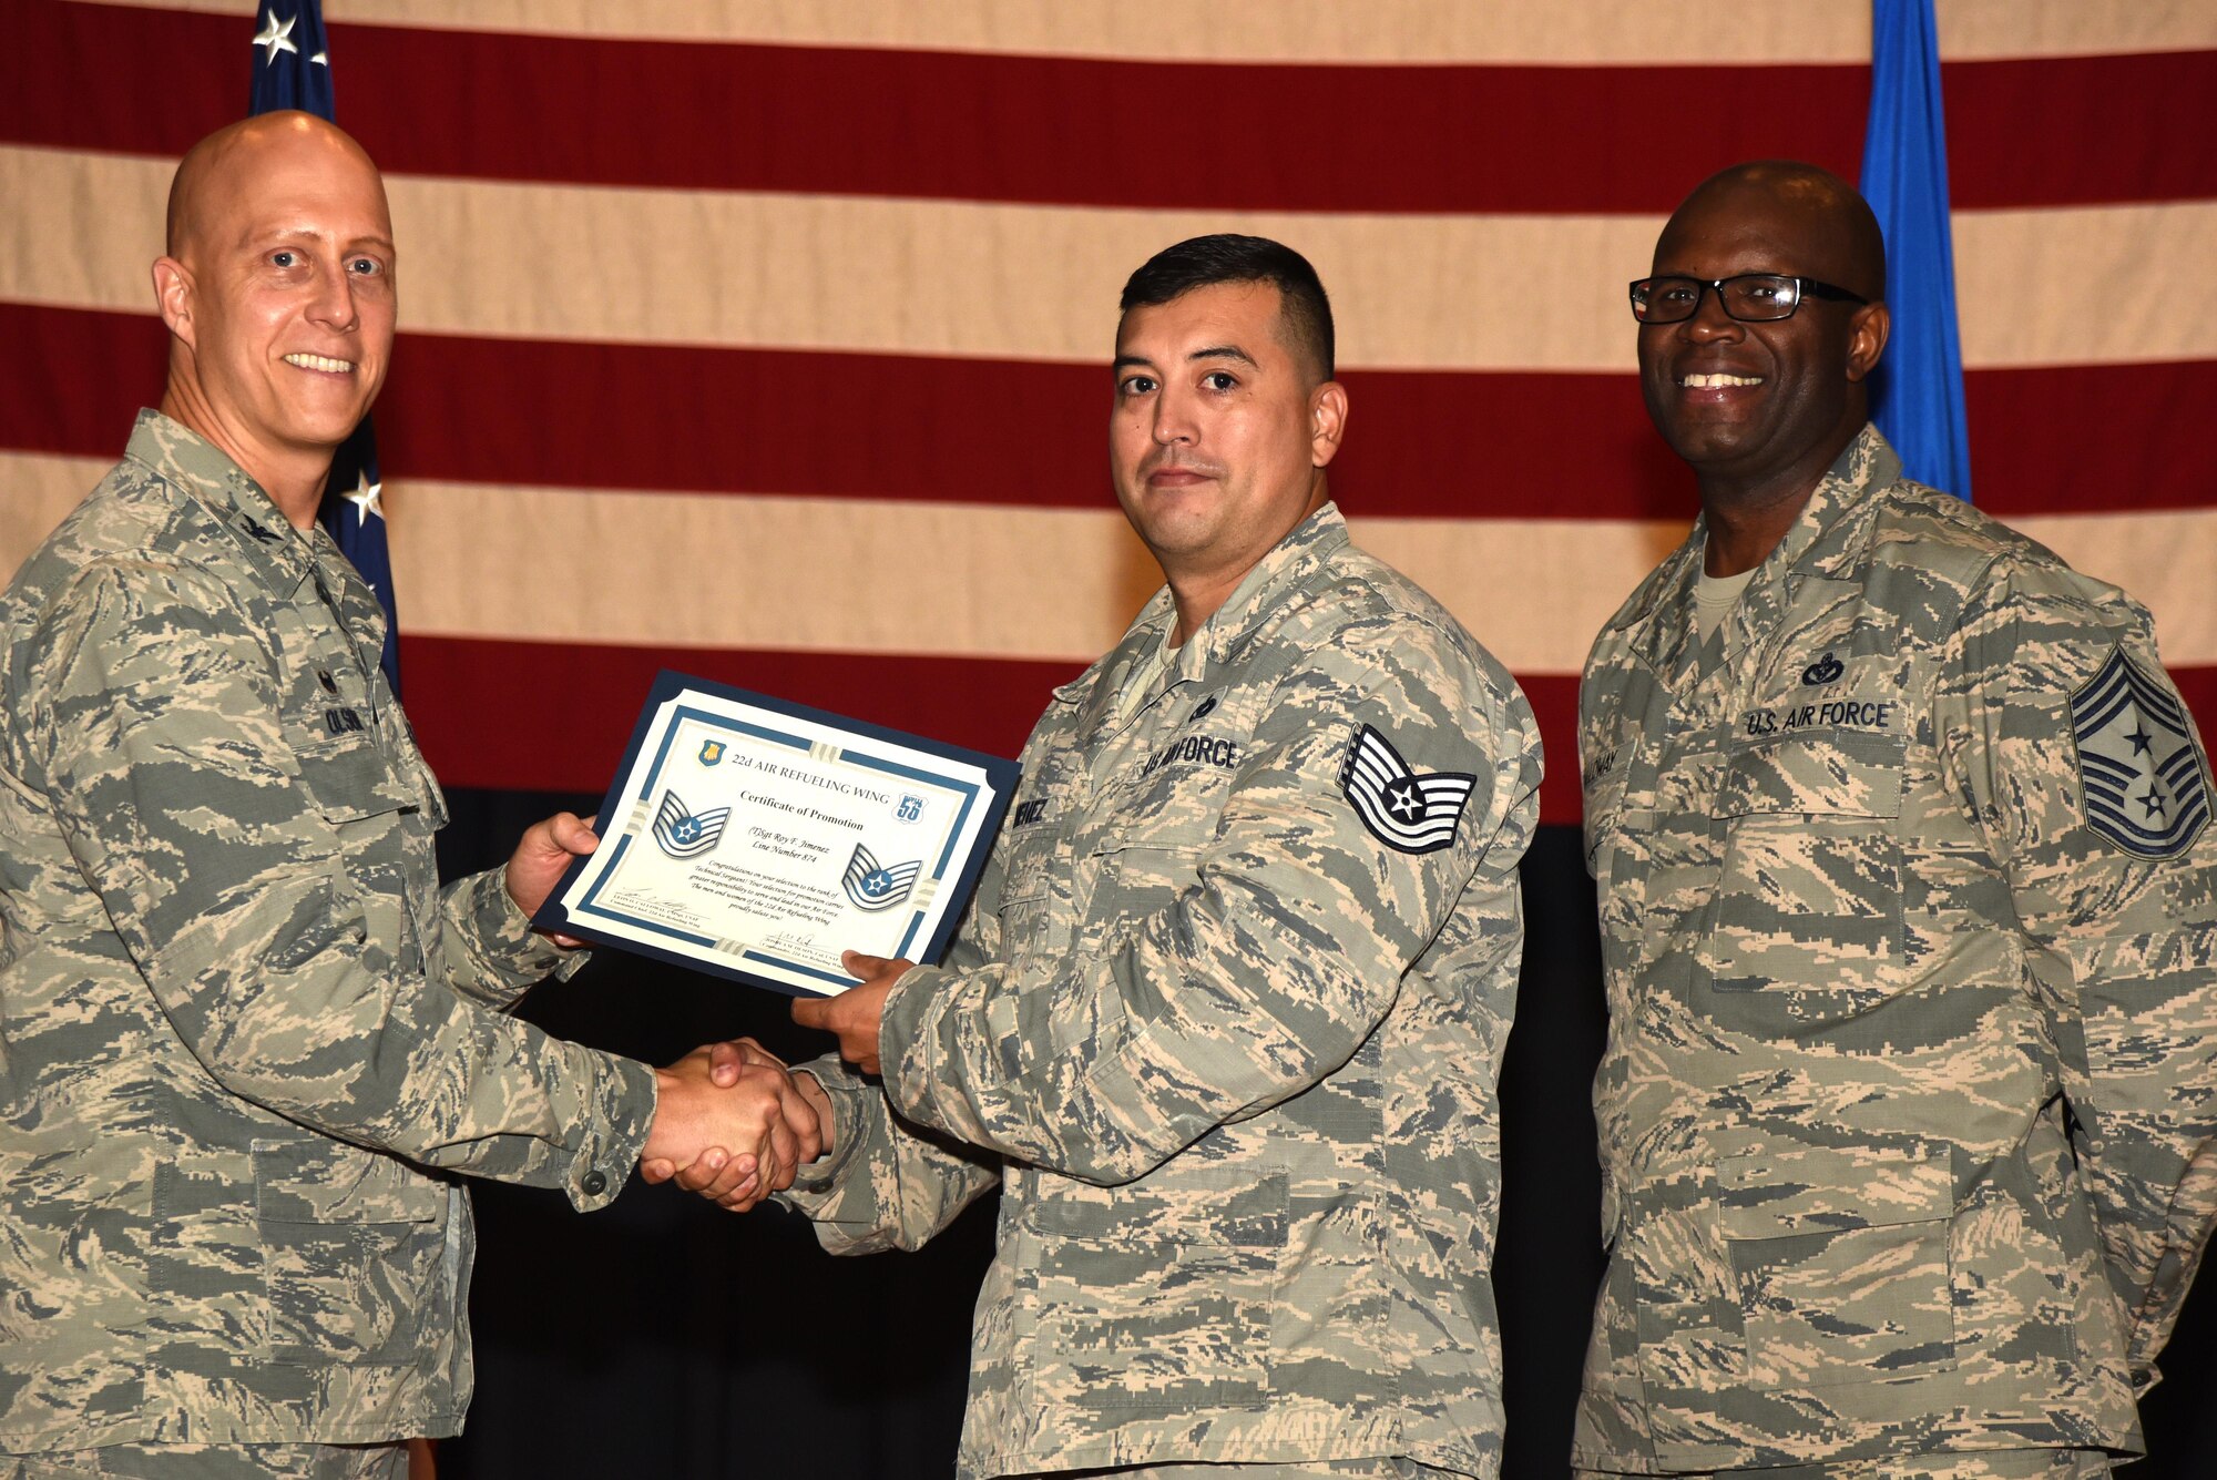
<path fill-rule="evenodd" d="M 654 1079 L 654 1126 L 638 1154 L 647 1181 L 687 1172 L 683 1185 L 745 1212 L 789 1188 L 820 1150 L 816 1112 L 776 1059 L 714 1066 L 712 1052 L 696 1048 Z"/>

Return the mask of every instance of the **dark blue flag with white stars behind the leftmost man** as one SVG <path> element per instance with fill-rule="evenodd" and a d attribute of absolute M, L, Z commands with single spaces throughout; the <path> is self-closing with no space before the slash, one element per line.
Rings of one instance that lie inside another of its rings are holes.
<path fill-rule="evenodd" d="M 299 109 L 317 117 L 333 115 L 330 44 L 324 40 L 324 7 L 319 0 L 264 0 L 255 29 L 255 82 L 248 113 Z M 330 459 L 330 481 L 324 485 L 324 527 L 339 541 L 339 552 L 355 563 L 361 578 L 377 592 L 386 609 L 386 682 L 401 691 L 401 627 L 392 603 L 392 556 L 386 549 L 384 485 L 377 479 L 377 434 L 364 417 L 355 434 L 339 443 Z"/>

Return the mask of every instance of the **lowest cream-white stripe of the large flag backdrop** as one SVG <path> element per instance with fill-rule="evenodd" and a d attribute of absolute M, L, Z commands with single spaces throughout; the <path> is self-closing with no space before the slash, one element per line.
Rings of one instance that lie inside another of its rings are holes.
<path fill-rule="evenodd" d="M 0 452 L 0 578 L 109 465 Z M 426 636 L 1091 662 L 1162 578 L 1115 510 L 399 481 L 386 510 L 408 629 Z M 1576 674 L 1601 623 L 1685 536 L 1634 521 L 1350 523 L 1519 674 Z M 2217 665 L 2217 510 L 2011 523 L 2133 592 L 2168 662 Z"/>

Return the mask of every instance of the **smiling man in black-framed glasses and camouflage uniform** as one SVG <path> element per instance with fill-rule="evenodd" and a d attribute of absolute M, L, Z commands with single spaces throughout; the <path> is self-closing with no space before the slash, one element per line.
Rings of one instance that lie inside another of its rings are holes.
<path fill-rule="evenodd" d="M 1698 186 L 1632 284 L 1703 512 L 1581 693 L 1585 1476 L 2106 1476 L 2217 1216 L 2193 720 L 2139 605 L 1900 476 L 1884 292 L 1802 164 Z"/>

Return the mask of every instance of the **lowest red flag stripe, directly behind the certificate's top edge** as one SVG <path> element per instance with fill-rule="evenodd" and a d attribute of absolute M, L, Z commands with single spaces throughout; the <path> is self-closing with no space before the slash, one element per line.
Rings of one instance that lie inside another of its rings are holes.
<path fill-rule="evenodd" d="M 408 716 L 448 787 L 603 791 L 632 738 L 654 676 L 681 667 L 873 724 L 991 756 L 1024 749 L 1055 685 L 1075 662 L 907 658 L 787 651 L 550 647 L 401 636 Z M 1579 820 L 1579 682 L 1521 678 L 1547 744 L 1541 811 Z"/>

